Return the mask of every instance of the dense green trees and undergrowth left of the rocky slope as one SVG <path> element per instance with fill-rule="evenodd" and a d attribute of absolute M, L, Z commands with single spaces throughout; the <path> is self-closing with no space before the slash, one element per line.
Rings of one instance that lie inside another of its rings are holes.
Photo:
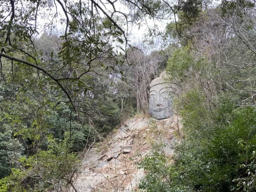
<path fill-rule="evenodd" d="M 58 37 L 46 33 L 37 41 L 36 46 L 45 51 L 56 45 Z M 44 60 L 57 62 L 54 56 Z M 110 83 L 105 77 L 88 78 L 92 86 L 83 102 L 76 103 L 78 113 L 65 102 L 57 102 L 64 98 L 46 77 L 36 84 L 33 69 L 15 65 L 13 73 L 8 73 L 11 63 L 2 63 L 6 75 L 0 82 L 1 191 L 72 187 L 79 172 L 79 153 L 120 122 L 115 86 L 107 87 Z"/>

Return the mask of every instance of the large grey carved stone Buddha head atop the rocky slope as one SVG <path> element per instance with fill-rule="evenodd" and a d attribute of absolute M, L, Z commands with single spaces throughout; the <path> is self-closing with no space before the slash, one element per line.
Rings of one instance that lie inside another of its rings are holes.
<path fill-rule="evenodd" d="M 173 95 L 177 91 L 177 85 L 165 82 L 166 72 L 150 83 L 149 113 L 155 119 L 167 119 L 174 113 L 172 109 Z"/>

